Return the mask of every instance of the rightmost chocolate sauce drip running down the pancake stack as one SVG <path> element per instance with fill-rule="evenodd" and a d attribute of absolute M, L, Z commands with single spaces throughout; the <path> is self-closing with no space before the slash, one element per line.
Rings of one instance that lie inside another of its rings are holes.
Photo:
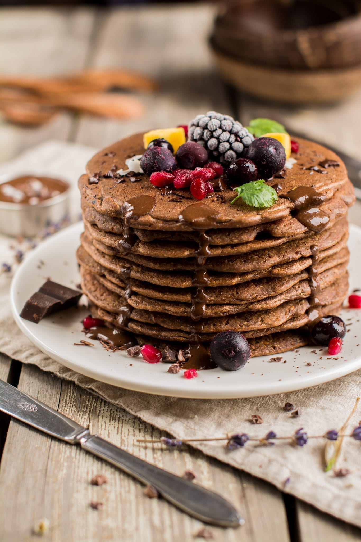
<path fill-rule="evenodd" d="M 330 222 L 329 215 L 319 208 L 319 205 L 326 201 L 326 196 L 323 193 L 317 192 L 310 186 L 298 186 L 280 197 L 289 199 L 294 203 L 294 216 L 309 230 L 320 233 Z M 312 244 L 310 248 L 311 265 L 307 269 L 311 290 L 311 295 L 309 297 L 310 308 L 307 311 L 309 326 L 311 326 L 320 316 L 317 308 L 319 305 L 317 294 L 320 291 L 320 286 L 317 281 L 316 270 L 316 263 L 319 261 L 319 247 L 316 244 Z"/>

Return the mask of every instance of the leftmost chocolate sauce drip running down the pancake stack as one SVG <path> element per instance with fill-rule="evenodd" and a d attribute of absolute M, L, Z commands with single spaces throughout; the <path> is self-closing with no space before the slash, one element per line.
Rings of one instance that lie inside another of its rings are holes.
<path fill-rule="evenodd" d="M 123 237 L 118 243 L 118 250 L 123 256 L 129 254 L 136 242 L 133 228 L 130 227 L 131 218 L 139 218 L 148 215 L 154 209 L 155 198 L 153 196 L 136 196 L 123 203 L 121 217 L 123 219 Z M 126 285 L 123 293 L 125 304 L 119 309 L 117 325 L 126 329 L 132 315 L 133 307 L 128 300 L 133 294 L 134 281 L 130 278 L 130 267 L 124 267 L 120 271 L 120 278 Z"/>

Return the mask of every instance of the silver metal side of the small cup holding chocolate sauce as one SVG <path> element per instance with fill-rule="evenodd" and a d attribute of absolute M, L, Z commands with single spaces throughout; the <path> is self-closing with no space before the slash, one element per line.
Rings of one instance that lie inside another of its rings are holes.
<path fill-rule="evenodd" d="M 64 192 L 36 205 L 0 201 L 0 232 L 12 237 L 34 237 L 51 224 L 63 222 L 69 216 L 70 185 L 57 180 L 67 185 Z"/>

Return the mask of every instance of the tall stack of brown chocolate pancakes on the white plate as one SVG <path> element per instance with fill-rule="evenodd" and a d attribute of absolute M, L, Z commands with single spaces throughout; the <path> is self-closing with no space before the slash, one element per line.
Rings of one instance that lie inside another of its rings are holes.
<path fill-rule="evenodd" d="M 336 154 L 298 143 L 292 169 L 268 181 L 279 199 L 267 209 L 231 204 L 235 192 L 218 189 L 219 179 L 197 201 L 145 174 L 120 176 L 125 160 L 144 152 L 142 134 L 97 153 L 79 180 L 77 259 L 91 313 L 140 343 L 207 349 L 233 330 L 251 356 L 307 344 L 312 322 L 337 314 L 347 294 L 355 195 Z"/>

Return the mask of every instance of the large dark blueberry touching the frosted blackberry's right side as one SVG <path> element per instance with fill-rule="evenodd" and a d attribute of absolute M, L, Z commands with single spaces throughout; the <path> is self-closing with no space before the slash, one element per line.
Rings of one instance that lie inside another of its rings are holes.
<path fill-rule="evenodd" d="M 247 149 L 247 158 L 257 165 L 258 176 L 269 179 L 283 169 L 286 153 L 283 145 L 272 137 L 259 137 Z"/>

